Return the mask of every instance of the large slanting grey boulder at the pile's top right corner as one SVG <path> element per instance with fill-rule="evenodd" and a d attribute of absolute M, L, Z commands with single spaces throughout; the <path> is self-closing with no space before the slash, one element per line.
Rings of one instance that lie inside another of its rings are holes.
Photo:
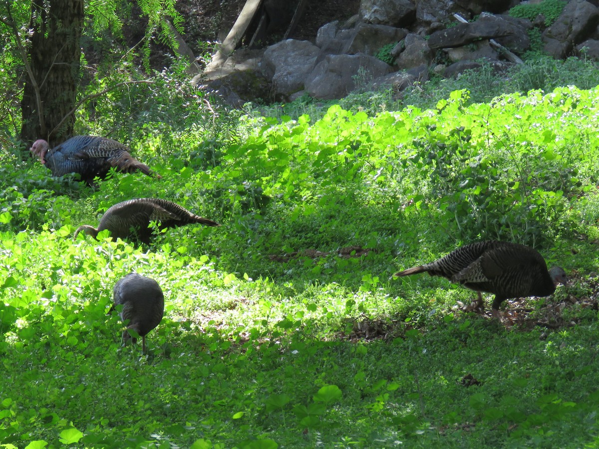
<path fill-rule="evenodd" d="M 574 45 L 586 40 L 599 23 L 599 9 L 585 0 L 573 0 L 553 25 L 543 32 L 544 51 L 564 59 Z"/>

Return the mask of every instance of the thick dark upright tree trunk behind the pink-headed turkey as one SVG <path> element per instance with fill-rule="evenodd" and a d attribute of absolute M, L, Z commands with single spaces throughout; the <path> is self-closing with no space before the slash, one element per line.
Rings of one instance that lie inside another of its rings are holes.
<path fill-rule="evenodd" d="M 84 0 L 50 0 L 32 2 L 29 47 L 35 83 L 26 80 L 21 102 L 24 141 L 46 139 L 50 147 L 72 136 L 75 116 L 56 126 L 74 108 L 80 79 L 81 46 Z M 40 19 L 40 20 L 37 20 Z M 36 86 L 37 84 L 37 86 Z M 41 99 L 38 108 L 37 92 Z"/>

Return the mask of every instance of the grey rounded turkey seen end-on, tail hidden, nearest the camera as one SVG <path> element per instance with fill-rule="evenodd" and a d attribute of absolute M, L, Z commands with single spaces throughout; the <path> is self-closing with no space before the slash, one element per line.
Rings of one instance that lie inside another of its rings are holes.
<path fill-rule="evenodd" d="M 114 284 L 114 305 L 123 305 L 120 318 L 129 320 L 127 329 L 133 329 L 141 337 L 142 351 L 146 353 L 146 334 L 162 321 L 164 295 L 158 283 L 137 273 L 129 273 Z M 123 330 L 123 345 L 129 340 L 135 344 L 137 338 Z"/>

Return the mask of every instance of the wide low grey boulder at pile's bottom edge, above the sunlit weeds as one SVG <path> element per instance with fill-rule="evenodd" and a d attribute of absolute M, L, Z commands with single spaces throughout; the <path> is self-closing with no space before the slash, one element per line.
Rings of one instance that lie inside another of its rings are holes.
<path fill-rule="evenodd" d="M 343 98 L 355 89 L 359 74 L 372 80 L 389 72 L 391 66 L 368 54 L 329 54 L 308 75 L 305 90 L 319 99 Z"/>

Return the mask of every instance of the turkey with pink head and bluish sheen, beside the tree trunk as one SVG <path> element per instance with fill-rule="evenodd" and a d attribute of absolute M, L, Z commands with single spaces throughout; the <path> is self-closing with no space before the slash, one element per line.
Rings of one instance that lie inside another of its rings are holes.
<path fill-rule="evenodd" d="M 48 142 L 39 139 L 30 150 L 52 171 L 52 175 L 78 173 L 87 184 L 91 184 L 95 177 L 104 179 L 113 167 L 128 173 L 141 171 L 152 175 L 150 167 L 131 156 L 128 147 L 105 137 L 75 136 L 51 150 Z"/>

